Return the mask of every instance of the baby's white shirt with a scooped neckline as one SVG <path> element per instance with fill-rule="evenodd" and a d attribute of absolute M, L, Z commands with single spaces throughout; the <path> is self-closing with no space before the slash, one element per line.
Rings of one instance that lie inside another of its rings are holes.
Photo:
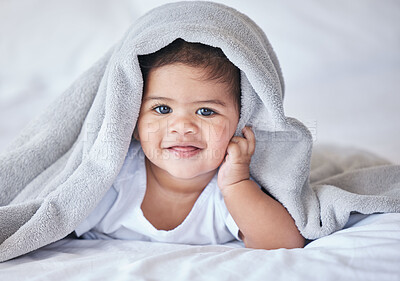
<path fill-rule="evenodd" d="M 85 239 L 129 239 L 183 244 L 222 244 L 239 228 L 226 208 L 217 174 L 197 198 L 185 220 L 172 230 L 156 229 L 140 208 L 146 192 L 145 156 L 133 141 L 112 187 L 75 232 Z"/>

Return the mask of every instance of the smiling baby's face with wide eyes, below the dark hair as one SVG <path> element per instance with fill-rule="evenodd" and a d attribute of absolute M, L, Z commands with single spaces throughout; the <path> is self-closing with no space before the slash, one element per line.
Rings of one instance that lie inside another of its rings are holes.
<path fill-rule="evenodd" d="M 138 135 L 150 165 L 174 177 L 213 173 L 239 120 L 227 83 L 205 80 L 205 70 L 171 64 L 150 71 Z"/>

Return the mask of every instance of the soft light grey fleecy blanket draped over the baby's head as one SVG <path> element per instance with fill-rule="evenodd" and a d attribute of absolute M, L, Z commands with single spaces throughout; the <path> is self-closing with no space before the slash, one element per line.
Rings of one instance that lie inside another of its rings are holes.
<path fill-rule="evenodd" d="M 322 153 L 311 173 L 311 134 L 285 116 L 278 60 L 252 20 L 221 4 L 178 2 L 136 21 L 0 156 L 0 261 L 62 239 L 96 207 L 119 173 L 138 118 L 137 56 L 177 38 L 220 47 L 241 70 L 236 134 L 245 125 L 256 134 L 251 176 L 304 237 L 341 229 L 352 211 L 400 211 L 398 166 L 369 154 L 339 163 Z"/>

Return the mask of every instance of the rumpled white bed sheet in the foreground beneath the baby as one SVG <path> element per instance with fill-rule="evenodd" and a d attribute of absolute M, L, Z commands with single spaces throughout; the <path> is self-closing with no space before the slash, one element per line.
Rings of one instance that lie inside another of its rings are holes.
<path fill-rule="evenodd" d="M 64 239 L 0 263 L 0 280 L 400 280 L 400 214 L 352 218 L 293 250 Z"/>

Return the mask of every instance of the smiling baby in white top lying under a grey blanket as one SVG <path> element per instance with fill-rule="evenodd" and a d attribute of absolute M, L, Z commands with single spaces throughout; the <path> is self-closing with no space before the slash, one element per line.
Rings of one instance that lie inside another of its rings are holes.
<path fill-rule="evenodd" d="M 77 235 L 303 247 L 287 210 L 250 177 L 253 131 L 244 127 L 243 137 L 234 136 L 239 69 L 221 49 L 182 39 L 139 56 L 139 63 L 143 97 L 128 155 Z"/>

